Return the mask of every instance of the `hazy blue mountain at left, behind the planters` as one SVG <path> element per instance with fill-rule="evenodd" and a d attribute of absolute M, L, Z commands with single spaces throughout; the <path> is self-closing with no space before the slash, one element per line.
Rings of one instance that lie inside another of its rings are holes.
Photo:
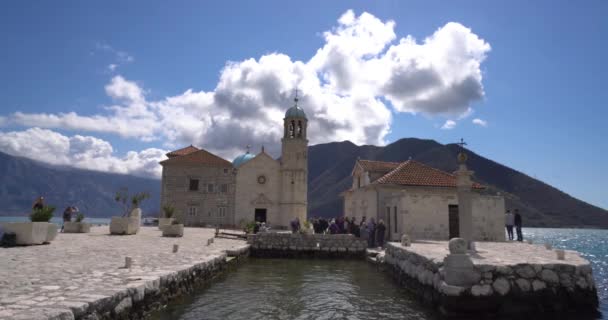
<path fill-rule="evenodd" d="M 40 195 L 57 208 L 56 217 L 70 205 L 89 217 L 120 215 L 121 207 L 114 201 L 114 195 L 122 187 L 130 192 L 149 192 L 150 199 L 142 204 L 144 215 L 158 213 L 158 180 L 51 166 L 0 152 L 0 215 L 28 214 Z"/>

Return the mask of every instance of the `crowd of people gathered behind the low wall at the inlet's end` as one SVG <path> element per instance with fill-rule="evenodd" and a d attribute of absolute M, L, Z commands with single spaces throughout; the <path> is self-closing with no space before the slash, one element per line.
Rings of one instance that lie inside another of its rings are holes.
<path fill-rule="evenodd" d="M 369 248 L 384 246 L 386 225 L 383 220 L 376 223 L 374 218 L 367 221 L 366 217 L 363 217 L 360 222 L 357 222 L 354 217 L 337 217 L 331 220 L 315 217 L 310 221 L 310 224 L 315 234 L 352 234 L 355 237 L 367 240 Z M 302 228 L 300 219 L 292 220 L 290 226 L 292 232 L 299 232 Z"/>

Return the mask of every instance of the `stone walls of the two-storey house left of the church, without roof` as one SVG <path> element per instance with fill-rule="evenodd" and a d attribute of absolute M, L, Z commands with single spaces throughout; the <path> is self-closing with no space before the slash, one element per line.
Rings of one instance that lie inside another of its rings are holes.
<path fill-rule="evenodd" d="M 191 181 L 198 181 L 196 188 Z M 163 165 L 161 207 L 171 205 L 186 226 L 234 225 L 236 178 L 230 162 Z"/>

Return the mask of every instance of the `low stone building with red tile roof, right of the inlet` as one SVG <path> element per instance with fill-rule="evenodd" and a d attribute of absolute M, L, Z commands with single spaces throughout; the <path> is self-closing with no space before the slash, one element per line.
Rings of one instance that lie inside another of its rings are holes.
<path fill-rule="evenodd" d="M 449 174 L 414 160 L 357 160 L 352 187 L 342 193 L 344 215 L 358 221 L 364 216 L 376 222 L 382 219 L 391 240 L 402 234 L 413 239 L 447 240 L 471 233 L 473 240 L 504 241 L 504 198 L 481 194 L 484 187 L 470 179 L 468 186 L 459 187 L 459 172 Z M 459 193 L 463 188 L 469 191 L 466 197 Z M 467 207 L 472 219 L 463 215 L 463 208 L 459 213 L 459 194 L 460 206 Z M 463 219 L 471 226 L 463 227 Z"/>

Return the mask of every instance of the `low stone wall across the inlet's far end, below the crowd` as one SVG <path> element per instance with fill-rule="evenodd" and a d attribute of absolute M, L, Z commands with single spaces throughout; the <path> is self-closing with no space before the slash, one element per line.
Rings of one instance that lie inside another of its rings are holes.
<path fill-rule="evenodd" d="M 248 235 L 253 257 L 363 258 L 367 241 L 351 234 L 258 233 Z"/>

